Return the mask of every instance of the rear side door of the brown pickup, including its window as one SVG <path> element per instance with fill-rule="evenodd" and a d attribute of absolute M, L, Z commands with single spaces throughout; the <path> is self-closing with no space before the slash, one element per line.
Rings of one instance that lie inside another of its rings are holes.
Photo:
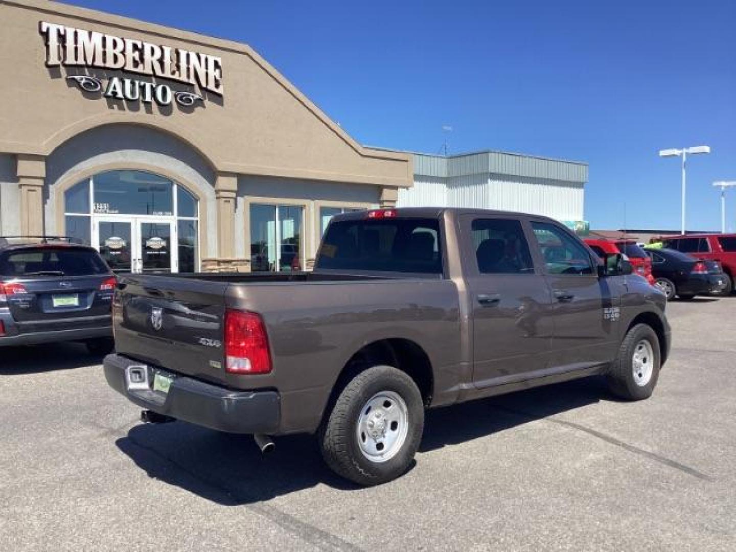
<path fill-rule="evenodd" d="M 519 219 L 461 217 L 464 273 L 473 314 L 473 382 L 503 385 L 547 366 L 551 297 L 534 268 Z"/>

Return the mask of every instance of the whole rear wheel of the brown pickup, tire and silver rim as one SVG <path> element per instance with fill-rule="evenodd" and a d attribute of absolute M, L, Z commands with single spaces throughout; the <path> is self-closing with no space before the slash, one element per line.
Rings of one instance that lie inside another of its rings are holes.
<path fill-rule="evenodd" d="M 328 466 L 360 485 L 402 475 L 424 431 L 417 384 L 399 369 L 375 366 L 359 373 L 338 395 L 319 431 Z"/>

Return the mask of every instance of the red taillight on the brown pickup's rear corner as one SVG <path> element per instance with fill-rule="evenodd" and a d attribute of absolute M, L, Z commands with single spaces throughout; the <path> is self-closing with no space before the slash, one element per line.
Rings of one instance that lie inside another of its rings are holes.
<path fill-rule="evenodd" d="M 266 326 L 258 314 L 225 311 L 225 369 L 233 374 L 271 372 Z"/>

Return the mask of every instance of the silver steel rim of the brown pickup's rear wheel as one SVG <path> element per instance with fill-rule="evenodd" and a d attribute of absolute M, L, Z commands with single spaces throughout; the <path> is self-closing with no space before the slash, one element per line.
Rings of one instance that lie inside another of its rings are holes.
<path fill-rule="evenodd" d="M 409 414 L 404 400 L 393 391 L 381 391 L 361 408 L 355 436 L 363 456 L 372 462 L 385 462 L 401 450 L 408 428 Z"/>

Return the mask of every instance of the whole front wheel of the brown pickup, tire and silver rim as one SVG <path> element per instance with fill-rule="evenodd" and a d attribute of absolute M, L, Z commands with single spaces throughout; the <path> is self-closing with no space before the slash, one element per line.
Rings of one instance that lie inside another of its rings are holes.
<path fill-rule="evenodd" d="M 626 333 L 606 376 L 609 388 L 627 400 L 650 397 L 657 386 L 661 365 L 657 333 L 651 326 L 637 324 Z"/>

